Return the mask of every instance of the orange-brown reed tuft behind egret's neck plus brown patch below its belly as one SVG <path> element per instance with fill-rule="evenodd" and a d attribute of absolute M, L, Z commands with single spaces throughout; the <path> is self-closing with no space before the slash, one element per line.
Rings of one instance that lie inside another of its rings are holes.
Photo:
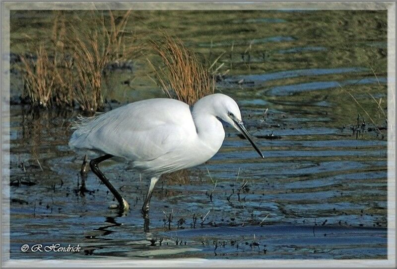
<path fill-rule="evenodd" d="M 167 96 L 193 105 L 201 97 L 214 93 L 214 77 L 196 54 L 186 48 L 180 39 L 165 32 L 161 35 L 161 41 L 152 40 L 151 45 L 163 66 L 155 68 L 150 60 L 148 62 Z M 164 174 L 161 178 L 168 182 L 188 182 L 189 172 L 180 170 Z"/>

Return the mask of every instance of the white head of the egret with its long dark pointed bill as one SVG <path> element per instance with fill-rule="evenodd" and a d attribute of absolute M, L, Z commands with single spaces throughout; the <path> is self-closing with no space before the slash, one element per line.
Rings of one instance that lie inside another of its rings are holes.
<path fill-rule="evenodd" d="M 236 101 L 225 94 L 216 93 L 212 95 L 217 95 L 216 97 L 214 96 L 216 99 L 214 105 L 214 109 L 215 109 L 214 114 L 223 121 L 232 125 L 236 130 L 238 130 L 242 135 L 244 135 L 244 137 L 248 141 L 250 141 L 251 145 L 259 153 L 259 155 L 265 159 L 264 155 L 262 154 L 257 144 L 255 144 L 252 136 L 245 128 L 244 123 L 241 119 L 240 108 L 237 105 Z"/>

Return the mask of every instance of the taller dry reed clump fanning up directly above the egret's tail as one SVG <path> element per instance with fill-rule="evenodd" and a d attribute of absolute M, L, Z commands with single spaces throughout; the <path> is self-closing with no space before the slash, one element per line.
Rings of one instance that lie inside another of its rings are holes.
<path fill-rule="evenodd" d="M 124 29 L 130 13 L 131 10 L 128 10 L 116 23 L 110 11 L 110 26 L 106 25 L 102 14 L 91 33 L 84 33 L 71 25 L 69 43 L 72 44 L 76 73 L 75 98 L 82 110 L 97 111 L 103 108 L 102 73 L 109 63 L 123 57 Z"/>

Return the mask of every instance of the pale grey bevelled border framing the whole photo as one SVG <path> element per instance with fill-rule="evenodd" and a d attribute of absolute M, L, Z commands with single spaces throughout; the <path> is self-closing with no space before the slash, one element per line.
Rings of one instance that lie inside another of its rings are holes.
<path fill-rule="evenodd" d="M 388 10 L 388 259 L 387 260 L 10 260 L 9 259 L 9 11 L 11 9 L 354 9 Z M 1 267 L 325 267 L 396 268 L 396 2 L 1 2 Z M 391 98 L 392 97 L 392 98 Z"/>

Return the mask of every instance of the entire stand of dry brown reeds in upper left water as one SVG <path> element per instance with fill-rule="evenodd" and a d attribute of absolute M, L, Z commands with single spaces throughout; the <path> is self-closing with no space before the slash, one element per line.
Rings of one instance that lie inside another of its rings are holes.
<path fill-rule="evenodd" d="M 141 46 L 133 35 L 126 45 L 125 28 L 131 10 L 119 17 L 109 11 L 106 20 L 103 13 L 92 12 L 88 19 L 94 21 L 93 30 L 87 31 L 84 28 L 88 21 L 77 16 L 66 22 L 65 15 L 58 11 L 52 46 L 46 49 L 41 45 L 36 62 L 22 59 L 23 96 L 32 105 L 65 107 L 77 103 L 86 112 L 101 110 L 104 69 L 110 63 L 138 55 Z"/>

